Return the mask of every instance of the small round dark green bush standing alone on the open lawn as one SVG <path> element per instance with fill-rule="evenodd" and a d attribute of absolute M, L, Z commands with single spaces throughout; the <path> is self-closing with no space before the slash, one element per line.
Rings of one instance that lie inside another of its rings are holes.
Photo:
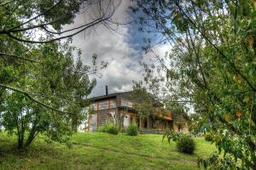
<path fill-rule="evenodd" d="M 182 136 L 177 140 L 177 150 L 187 154 L 193 154 L 195 150 L 195 140 L 189 136 Z"/>

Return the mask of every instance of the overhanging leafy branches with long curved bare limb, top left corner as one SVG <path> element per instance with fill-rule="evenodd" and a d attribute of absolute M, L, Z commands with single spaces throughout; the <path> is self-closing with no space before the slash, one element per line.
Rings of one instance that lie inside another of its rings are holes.
<path fill-rule="evenodd" d="M 120 1 L 112 0 L 39 0 L 39 1 L 6 1 L 0 3 L 1 29 L 0 35 L 19 42 L 46 43 L 73 37 L 90 27 L 108 24 Z M 76 14 L 90 14 L 94 16 L 84 20 L 84 24 L 71 29 L 63 30 L 62 26 L 72 24 Z M 33 39 L 32 34 L 42 31 L 41 37 L 49 39 Z"/>

